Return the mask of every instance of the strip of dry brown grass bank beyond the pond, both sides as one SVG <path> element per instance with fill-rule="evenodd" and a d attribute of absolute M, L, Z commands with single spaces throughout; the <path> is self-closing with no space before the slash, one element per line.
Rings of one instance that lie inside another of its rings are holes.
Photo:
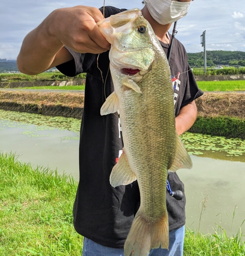
<path fill-rule="evenodd" d="M 82 93 L 0 91 L 0 103 L 83 108 Z M 245 117 L 245 93 L 205 93 L 196 100 L 200 116 Z"/>

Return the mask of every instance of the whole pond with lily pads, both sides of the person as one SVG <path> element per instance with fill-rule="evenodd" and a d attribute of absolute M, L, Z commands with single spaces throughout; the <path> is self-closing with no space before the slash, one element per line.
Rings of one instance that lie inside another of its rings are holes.
<path fill-rule="evenodd" d="M 78 180 L 80 120 L 0 110 L 0 151 L 34 167 Z M 181 136 L 193 162 L 178 170 L 186 191 L 186 226 L 203 233 L 236 234 L 245 219 L 245 141 L 203 134 Z M 245 224 L 244 224 L 245 225 Z"/>

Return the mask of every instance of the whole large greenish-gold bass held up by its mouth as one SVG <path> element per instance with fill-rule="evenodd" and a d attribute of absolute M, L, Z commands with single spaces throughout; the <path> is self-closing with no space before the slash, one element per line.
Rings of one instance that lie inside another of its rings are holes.
<path fill-rule="evenodd" d="M 113 187 L 137 180 L 140 207 L 125 246 L 125 256 L 147 256 L 169 246 L 166 209 L 168 172 L 192 162 L 175 127 L 174 89 L 166 55 L 151 25 L 135 8 L 97 23 L 110 42 L 114 92 L 101 115 L 118 112 L 124 147 L 114 165 Z"/>

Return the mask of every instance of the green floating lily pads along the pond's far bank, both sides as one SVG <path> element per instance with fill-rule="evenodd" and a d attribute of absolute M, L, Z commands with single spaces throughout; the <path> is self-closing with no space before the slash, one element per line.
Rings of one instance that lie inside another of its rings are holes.
<path fill-rule="evenodd" d="M 41 136 L 40 131 L 60 129 L 76 132 L 78 134 L 76 139 L 79 139 L 81 120 L 75 118 L 51 117 L 0 110 L 0 120 L 0 130 L 7 127 L 24 126 L 27 130 L 24 134 L 28 136 Z M 35 125 L 35 127 L 30 125 Z M 181 140 L 190 155 L 245 161 L 245 141 L 240 138 L 186 132 L 181 135 Z"/>

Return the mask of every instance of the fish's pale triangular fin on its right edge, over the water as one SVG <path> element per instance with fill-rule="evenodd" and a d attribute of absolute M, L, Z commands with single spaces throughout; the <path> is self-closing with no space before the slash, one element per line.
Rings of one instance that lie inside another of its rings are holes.
<path fill-rule="evenodd" d="M 176 170 L 181 168 L 190 169 L 192 167 L 191 158 L 186 151 L 184 144 L 182 143 L 179 135 L 176 133 L 176 152 L 175 158 L 171 166 L 168 168 L 170 172 L 176 172 Z"/>

